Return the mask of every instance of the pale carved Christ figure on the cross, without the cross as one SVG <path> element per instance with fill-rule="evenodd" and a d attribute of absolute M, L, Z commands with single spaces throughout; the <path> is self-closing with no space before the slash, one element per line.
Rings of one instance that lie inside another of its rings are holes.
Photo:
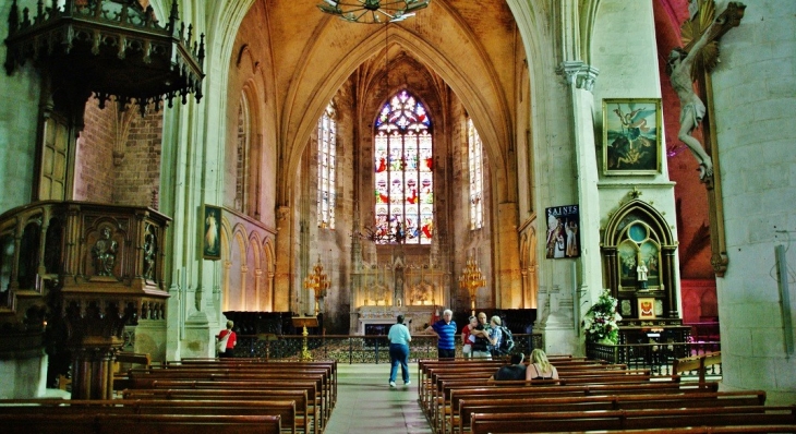
<path fill-rule="evenodd" d="M 720 19 L 723 20 L 723 19 Z M 680 99 L 680 129 L 677 138 L 685 143 L 697 160 L 699 161 L 699 179 L 704 180 L 713 176 L 713 160 L 691 133 L 702 122 L 705 107 L 697 93 L 694 92 L 694 82 L 691 80 L 691 68 L 694 61 L 711 39 L 713 26 L 720 23 L 720 20 L 713 21 L 708 28 L 704 29 L 699 40 L 694 44 L 690 51 L 683 48 L 675 48 L 668 55 L 666 72 L 670 74 L 672 87 Z"/>

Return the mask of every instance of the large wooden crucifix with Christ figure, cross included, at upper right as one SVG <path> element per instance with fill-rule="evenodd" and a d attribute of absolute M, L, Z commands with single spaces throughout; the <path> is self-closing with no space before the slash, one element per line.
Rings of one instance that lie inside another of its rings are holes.
<path fill-rule="evenodd" d="M 724 276 L 729 262 L 724 237 L 724 205 L 715 138 L 711 71 L 719 63 L 719 39 L 744 17 L 746 5 L 731 1 L 716 14 L 714 0 L 689 0 L 690 19 L 680 26 L 683 48 L 668 57 L 666 72 L 680 99 L 680 129 L 677 137 L 699 161 L 699 178 L 708 189 L 711 265 L 717 277 Z M 697 83 L 695 92 L 694 82 Z M 691 135 L 702 124 L 704 145 Z"/>

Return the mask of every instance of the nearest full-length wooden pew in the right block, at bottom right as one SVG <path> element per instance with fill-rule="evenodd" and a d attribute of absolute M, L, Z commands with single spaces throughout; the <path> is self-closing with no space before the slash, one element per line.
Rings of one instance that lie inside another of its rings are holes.
<path fill-rule="evenodd" d="M 796 424 L 796 406 L 473 413 L 472 434 Z"/>

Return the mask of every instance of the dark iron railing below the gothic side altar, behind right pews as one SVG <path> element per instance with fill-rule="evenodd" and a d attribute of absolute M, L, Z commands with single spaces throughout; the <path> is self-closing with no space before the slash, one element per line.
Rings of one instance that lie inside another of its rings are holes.
<path fill-rule="evenodd" d="M 649 369 L 652 375 L 673 375 L 672 365 L 676 359 L 702 355 L 721 351 L 720 342 L 665 342 L 605 345 L 589 343 L 586 355 L 590 359 L 605 360 L 612 363 L 627 364 L 628 369 Z M 680 373 L 690 377 L 698 376 L 697 371 Z M 722 365 L 708 366 L 705 375 L 721 376 Z"/>

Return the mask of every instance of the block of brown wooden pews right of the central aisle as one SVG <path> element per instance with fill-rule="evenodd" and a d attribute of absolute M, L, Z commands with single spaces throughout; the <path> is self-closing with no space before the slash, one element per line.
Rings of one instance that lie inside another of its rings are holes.
<path fill-rule="evenodd" d="M 419 401 L 436 434 L 796 432 L 796 406 L 765 407 L 761 390 L 719 391 L 717 383 L 571 357 L 551 362 L 558 381 L 495 382 L 505 360 L 421 360 Z"/>

